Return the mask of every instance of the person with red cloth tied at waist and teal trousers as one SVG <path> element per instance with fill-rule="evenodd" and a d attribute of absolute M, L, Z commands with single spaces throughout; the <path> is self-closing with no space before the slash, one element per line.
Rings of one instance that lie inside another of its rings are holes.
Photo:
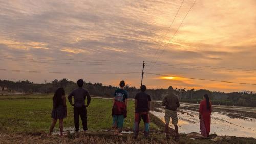
<path fill-rule="evenodd" d="M 122 80 L 118 88 L 114 93 L 113 107 L 112 107 L 112 117 L 114 128 L 114 135 L 121 135 L 123 129 L 124 118 L 127 117 L 127 99 L 128 92 L 123 88 L 125 86 L 124 81 Z"/>

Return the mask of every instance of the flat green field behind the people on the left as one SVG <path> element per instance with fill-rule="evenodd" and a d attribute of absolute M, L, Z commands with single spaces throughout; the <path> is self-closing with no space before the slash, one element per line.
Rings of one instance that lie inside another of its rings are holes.
<path fill-rule="evenodd" d="M 134 101 L 129 101 L 128 105 L 124 130 L 132 130 L 134 122 Z M 69 103 L 67 106 L 68 116 L 64 120 L 64 127 L 73 127 L 73 107 Z M 49 96 L 1 96 L 0 128 L 8 132 L 47 132 L 51 124 L 51 110 L 52 99 Z M 93 98 L 87 108 L 89 131 L 111 129 L 111 110 L 112 100 Z M 152 123 L 151 128 L 157 126 Z M 58 125 L 55 129 L 58 129 Z"/>

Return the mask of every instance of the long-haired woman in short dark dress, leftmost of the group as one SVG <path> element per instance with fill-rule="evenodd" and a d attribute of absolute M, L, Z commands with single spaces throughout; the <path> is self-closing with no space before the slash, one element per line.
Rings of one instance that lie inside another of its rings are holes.
<path fill-rule="evenodd" d="M 60 136 L 63 136 L 63 119 L 67 117 L 66 97 L 63 88 L 58 88 L 53 96 L 52 124 L 49 135 L 52 134 L 53 128 L 59 119 Z"/>

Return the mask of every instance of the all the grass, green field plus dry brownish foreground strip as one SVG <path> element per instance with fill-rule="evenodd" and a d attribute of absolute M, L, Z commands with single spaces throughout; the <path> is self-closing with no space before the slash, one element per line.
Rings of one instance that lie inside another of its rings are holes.
<path fill-rule="evenodd" d="M 46 137 L 51 124 L 52 110 L 51 96 L 0 96 L 0 143 L 176 143 L 165 140 L 163 122 L 151 115 L 149 139 L 139 136 L 132 139 L 131 134 L 121 137 L 113 136 L 110 132 L 112 125 L 112 100 L 95 99 L 87 109 L 89 133 L 68 134 L 66 137 Z M 68 105 L 68 117 L 64 120 L 64 127 L 74 127 L 73 108 Z M 129 101 L 127 118 L 124 123 L 125 131 L 132 131 L 134 124 L 134 101 Z M 157 105 L 152 105 L 157 106 Z M 142 122 L 143 123 L 143 122 Z M 140 125 L 143 129 L 143 124 Z M 80 127 L 81 120 L 80 120 Z M 58 125 L 55 126 L 58 130 Z M 213 136 L 214 137 L 214 136 Z M 211 141 L 209 139 L 189 139 L 185 134 L 180 135 L 179 143 L 256 143 L 253 138 L 231 137 L 230 139 Z"/>

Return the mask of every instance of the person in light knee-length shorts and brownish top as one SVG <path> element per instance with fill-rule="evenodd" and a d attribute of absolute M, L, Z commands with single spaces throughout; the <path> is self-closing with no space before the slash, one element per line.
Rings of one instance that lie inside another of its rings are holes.
<path fill-rule="evenodd" d="M 169 138 L 169 123 L 170 118 L 172 118 L 172 124 L 174 125 L 176 136 L 179 135 L 178 130 L 178 116 L 177 108 L 180 107 L 179 97 L 174 94 L 174 89 L 172 86 L 168 88 L 168 94 L 164 96 L 162 106 L 165 106 L 165 132 L 166 138 Z"/>

